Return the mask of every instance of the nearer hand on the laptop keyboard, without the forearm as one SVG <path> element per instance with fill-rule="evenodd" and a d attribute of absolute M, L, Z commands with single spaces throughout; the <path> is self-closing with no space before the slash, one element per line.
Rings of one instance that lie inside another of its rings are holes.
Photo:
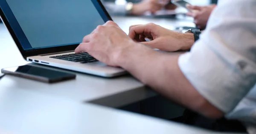
<path fill-rule="evenodd" d="M 87 52 L 109 66 L 118 67 L 120 54 L 132 45 L 136 43 L 115 22 L 108 21 L 84 36 L 75 52 Z"/>

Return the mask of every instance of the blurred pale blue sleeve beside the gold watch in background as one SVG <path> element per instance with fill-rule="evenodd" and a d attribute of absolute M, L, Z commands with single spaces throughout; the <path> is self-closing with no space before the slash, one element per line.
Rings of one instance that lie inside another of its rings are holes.
<path fill-rule="evenodd" d="M 123 16 L 127 14 L 125 10 L 125 5 L 116 5 L 114 2 L 105 2 L 104 0 L 101 1 L 109 14 Z"/>

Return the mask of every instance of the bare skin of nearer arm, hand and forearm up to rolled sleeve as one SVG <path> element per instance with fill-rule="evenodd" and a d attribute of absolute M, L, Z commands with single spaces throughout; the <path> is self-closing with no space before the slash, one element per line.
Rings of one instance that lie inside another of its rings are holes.
<path fill-rule="evenodd" d="M 193 34 L 191 36 L 194 40 Z M 84 37 L 75 51 L 87 51 L 110 66 L 125 68 L 143 83 L 189 109 L 209 117 L 223 115 L 181 73 L 177 62 L 179 54 L 162 53 L 135 43 L 114 22 L 98 26 Z"/>

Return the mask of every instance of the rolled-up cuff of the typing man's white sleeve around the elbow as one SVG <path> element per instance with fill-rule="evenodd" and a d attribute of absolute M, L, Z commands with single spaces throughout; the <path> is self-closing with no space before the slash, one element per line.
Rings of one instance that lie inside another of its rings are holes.
<path fill-rule="evenodd" d="M 200 44 L 198 42 L 192 52 L 180 56 L 179 67 L 204 98 L 228 113 L 249 92 L 255 76 L 250 77 L 239 68 L 229 66 L 209 47 Z"/>

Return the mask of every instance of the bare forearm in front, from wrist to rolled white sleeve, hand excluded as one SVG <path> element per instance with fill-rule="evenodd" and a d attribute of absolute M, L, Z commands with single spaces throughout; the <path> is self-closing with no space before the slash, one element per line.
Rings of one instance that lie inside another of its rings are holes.
<path fill-rule="evenodd" d="M 209 117 L 220 117 L 222 114 L 216 114 L 220 113 L 218 109 L 209 104 L 180 71 L 179 55 L 137 45 L 128 48 L 119 61 L 121 67 L 167 98 Z"/>

